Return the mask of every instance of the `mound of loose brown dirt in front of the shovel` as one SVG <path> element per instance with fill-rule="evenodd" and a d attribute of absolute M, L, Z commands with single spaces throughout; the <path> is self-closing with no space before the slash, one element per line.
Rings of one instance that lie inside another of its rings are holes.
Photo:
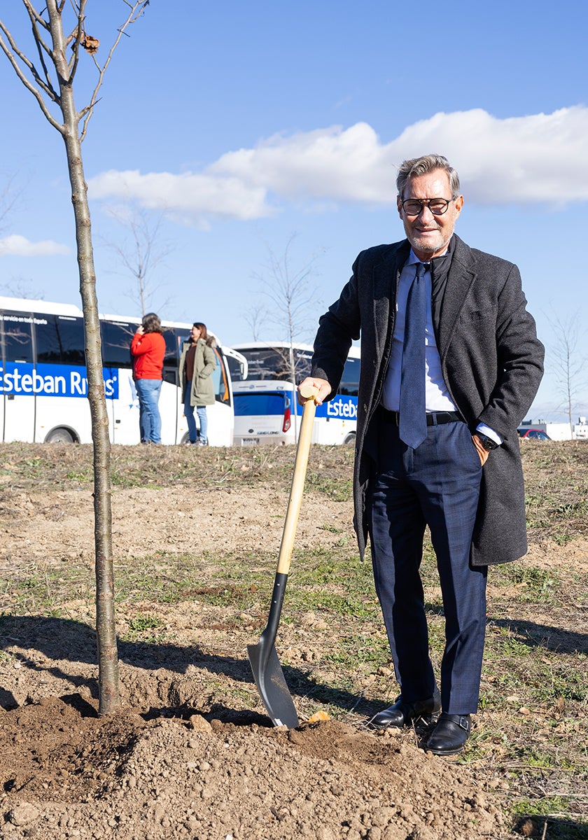
<path fill-rule="evenodd" d="M 503 827 L 467 769 L 341 722 L 98 717 L 71 694 L 3 712 L 0 754 L 13 840 L 470 840 Z"/>

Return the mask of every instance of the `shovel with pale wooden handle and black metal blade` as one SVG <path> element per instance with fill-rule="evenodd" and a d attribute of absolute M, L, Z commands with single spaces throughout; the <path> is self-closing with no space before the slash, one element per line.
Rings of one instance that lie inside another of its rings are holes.
<path fill-rule="evenodd" d="M 276 654 L 275 643 L 278 624 L 280 623 L 281 606 L 284 603 L 284 594 L 286 592 L 288 571 L 290 570 L 294 535 L 296 533 L 298 514 L 300 513 L 302 502 L 304 479 L 307 475 L 312 423 L 317 407 L 314 402 L 316 393 L 317 391 L 312 386 L 307 391 L 301 390 L 301 395 L 307 397 L 307 402 L 304 403 L 304 410 L 302 412 L 300 436 L 298 438 L 296 461 L 294 463 L 294 475 L 292 475 L 290 498 L 288 499 L 286 510 L 286 522 L 284 523 L 284 533 L 281 538 L 280 556 L 278 558 L 276 579 L 274 580 L 274 591 L 271 594 L 270 615 L 267 619 L 265 630 L 261 633 L 260 641 L 257 644 L 247 645 L 249 664 L 253 671 L 257 690 L 260 692 L 261 699 L 264 701 L 265 711 L 267 711 L 274 726 L 286 726 L 288 729 L 294 729 L 298 726 L 298 716 L 290 696 L 290 691 L 286 685 L 286 680 L 284 679 L 284 672 L 281 669 L 278 654 Z"/>

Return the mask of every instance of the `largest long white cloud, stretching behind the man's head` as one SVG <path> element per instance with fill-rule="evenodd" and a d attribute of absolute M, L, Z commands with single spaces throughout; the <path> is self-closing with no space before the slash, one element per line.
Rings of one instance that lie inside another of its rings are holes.
<path fill-rule="evenodd" d="M 386 144 L 367 123 L 276 134 L 202 172 L 109 171 L 90 189 L 93 198 L 139 201 L 202 225 L 263 218 L 288 201 L 389 205 L 402 160 L 438 152 L 459 171 L 468 202 L 564 204 L 588 200 L 586 136 L 585 106 L 506 119 L 475 108 L 437 113 Z"/>

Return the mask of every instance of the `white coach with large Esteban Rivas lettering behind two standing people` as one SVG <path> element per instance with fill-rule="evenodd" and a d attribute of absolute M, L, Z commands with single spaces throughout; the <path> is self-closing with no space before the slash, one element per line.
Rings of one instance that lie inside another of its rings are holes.
<path fill-rule="evenodd" d="M 102 366 L 113 444 L 138 444 L 139 400 L 133 381 L 130 343 L 141 318 L 101 315 Z M 161 442 L 187 439 L 178 363 L 181 342 L 192 324 L 161 323 L 165 339 L 160 393 Z M 75 306 L 0 297 L 0 441 L 87 444 L 92 442 L 87 401 L 82 312 Z M 227 354 L 246 374 L 239 354 L 213 348 L 216 402 L 208 407 L 209 443 L 230 446 L 234 405 Z"/>

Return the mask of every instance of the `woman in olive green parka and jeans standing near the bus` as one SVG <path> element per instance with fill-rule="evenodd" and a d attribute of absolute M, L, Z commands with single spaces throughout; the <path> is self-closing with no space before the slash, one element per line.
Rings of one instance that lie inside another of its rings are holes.
<path fill-rule="evenodd" d="M 207 406 L 214 404 L 214 385 L 211 374 L 217 366 L 212 338 L 208 338 L 205 323 L 194 323 L 190 338 L 181 346 L 180 383 L 184 397 L 184 414 L 188 424 L 190 444 L 206 446 L 208 443 Z M 196 408 L 200 428 L 194 419 Z"/>

